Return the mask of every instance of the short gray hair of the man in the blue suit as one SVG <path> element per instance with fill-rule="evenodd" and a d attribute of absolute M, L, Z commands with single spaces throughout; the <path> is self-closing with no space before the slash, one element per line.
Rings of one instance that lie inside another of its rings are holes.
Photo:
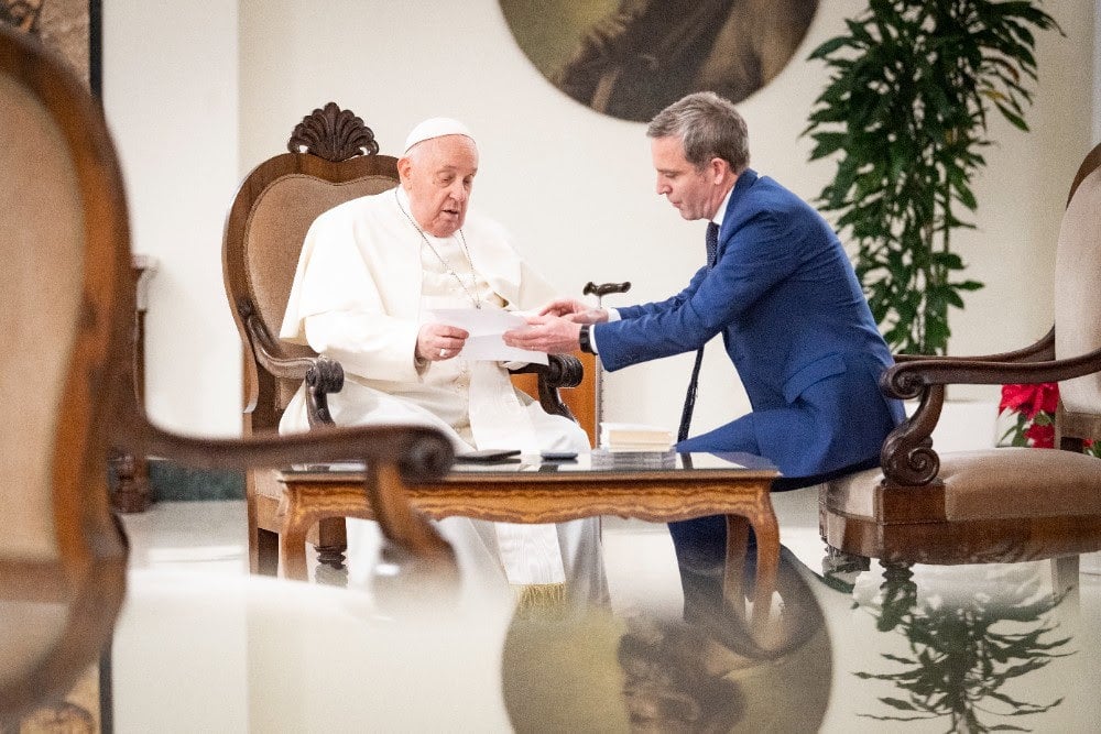
<path fill-rule="evenodd" d="M 680 139 L 688 163 L 702 168 L 722 158 L 740 174 L 750 165 L 750 135 L 745 120 L 732 102 L 712 91 L 697 91 L 654 116 L 647 138 Z"/>

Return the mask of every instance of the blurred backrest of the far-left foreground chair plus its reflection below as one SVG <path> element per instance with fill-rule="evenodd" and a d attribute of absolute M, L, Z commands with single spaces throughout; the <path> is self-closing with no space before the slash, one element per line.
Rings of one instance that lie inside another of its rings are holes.
<path fill-rule="evenodd" d="M 3 731 L 98 658 L 126 588 L 99 430 L 106 368 L 124 348 L 110 318 L 112 222 L 101 216 L 117 191 L 99 186 L 108 144 L 87 120 L 98 116 L 63 62 L 0 26 Z"/>

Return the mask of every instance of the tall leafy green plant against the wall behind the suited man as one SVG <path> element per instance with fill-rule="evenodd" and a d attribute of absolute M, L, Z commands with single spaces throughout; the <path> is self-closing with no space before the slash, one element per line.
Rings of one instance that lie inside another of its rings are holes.
<path fill-rule="evenodd" d="M 811 59 L 831 70 L 804 135 L 810 160 L 837 155 L 824 210 L 857 245 L 854 266 L 892 349 L 944 354 L 949 307 L 982 283 L 962 277 L 952 232 L 978 202 L 971 180 L 998 110 L 1028 130 L 1035 30 L 1055 20 L 1033 2 L 870 0 Z"/>

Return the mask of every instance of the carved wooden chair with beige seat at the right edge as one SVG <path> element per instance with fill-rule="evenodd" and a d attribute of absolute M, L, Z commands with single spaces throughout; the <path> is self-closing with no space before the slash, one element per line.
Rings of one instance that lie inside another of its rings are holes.
<path fill-rule="evenodd" d="M 882 470 L 827 484 L 827 545 L 885 563 L 1001 562 L 1101 549 L 1101 146 L 1075 176 L 1059 232 L 1055 327 L 1017 351 L 977 358 L 900 358 L 882 380 L 917 398 L 884 441 Z M 930 435 L 948 384 L 1058 382 L 1065 450 L 998 448 L 938 456 Z"/>

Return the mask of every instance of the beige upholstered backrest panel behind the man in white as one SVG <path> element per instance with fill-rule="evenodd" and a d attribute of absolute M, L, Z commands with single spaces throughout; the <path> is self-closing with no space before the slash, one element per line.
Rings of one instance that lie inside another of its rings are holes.
<path fill-rule="evenodd" d="M 277 337 L 286 298 L 298 264 L 306 230 L 321 212 L 350 199 L 393 188 L 389 176 L 364 176 L 330 184 L 305 174 L 279 178 L 258 197 L 249 217 L 246 259 L 253 303 L 273 337 Z M 313 354 L 307 347 L 284 344 L 288 354 Z M 286 407 L 298 383 L 280 381 L 280 407 Z"/>

